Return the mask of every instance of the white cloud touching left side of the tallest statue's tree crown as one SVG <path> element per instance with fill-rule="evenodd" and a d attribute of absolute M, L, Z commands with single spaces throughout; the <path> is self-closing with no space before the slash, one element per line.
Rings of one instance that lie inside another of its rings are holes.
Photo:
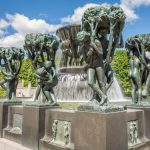
<path fill-rule="evenodd" d="M 98 6 L 98 4 L 95 3 L 89 3 L 84 5 L 83 7 L 78 7 L 74 10 L 73 15 L 69 15 L 67 17 L 64 17 L 61 19 L 62 23 L 72 23 L 72 24 L 78 24 L 81 22 L 82 15 L 84 11 L 90 7 Z"/>

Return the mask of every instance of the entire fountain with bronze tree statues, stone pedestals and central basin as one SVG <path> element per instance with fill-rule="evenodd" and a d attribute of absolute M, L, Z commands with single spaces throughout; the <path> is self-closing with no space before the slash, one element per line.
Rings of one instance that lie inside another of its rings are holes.
<path fill-rule="evenodd" d="M 84 12 L 81 26 L 58 29 L 62 49 L 58 74 L 57 38 L 27 34 L 24 49 L 38 81 L 34 102 L 20 106 L 0 102 L 0 137 L 35 150 L 149 150 L 150 105 L 139 105 L 142 97 L 149 96 L 149 34 L 126 41 L 133 105 L 112 105 L 107 93 L 117 81 L 111 62 L 115 49 L 122 47 L 125 19 L 118 5 L 100 5 Z M 21 49 L 0 48 L 0 71 L 4 75 L 0 86 L 8 90 L 10 101 L 16 99 L 23 57 Z M 76 87 L 76 91 L 72 93 L 68 87 Z M 71 95 L 70 100 L 92 97 L 76 110 L 60 109 L 56 99 L 66 99 L 67 95 Z"/>

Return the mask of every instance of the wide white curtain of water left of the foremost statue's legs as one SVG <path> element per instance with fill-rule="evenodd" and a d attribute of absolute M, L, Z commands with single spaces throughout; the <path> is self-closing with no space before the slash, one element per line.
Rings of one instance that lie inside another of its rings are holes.
<path fill-rule="evenodd" d="M 85 74 L 60 74 L 58 80 L 54 88 L 58 101 L 87 101 L 92 95 Z"/>

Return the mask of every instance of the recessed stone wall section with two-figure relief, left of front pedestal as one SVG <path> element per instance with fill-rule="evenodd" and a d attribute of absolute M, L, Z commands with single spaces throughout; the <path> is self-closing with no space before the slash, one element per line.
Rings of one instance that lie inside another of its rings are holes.
<path fill-rule="evenodd" d="M 47 110 L 41 150 L 74 150 L 74 111 Z"/>

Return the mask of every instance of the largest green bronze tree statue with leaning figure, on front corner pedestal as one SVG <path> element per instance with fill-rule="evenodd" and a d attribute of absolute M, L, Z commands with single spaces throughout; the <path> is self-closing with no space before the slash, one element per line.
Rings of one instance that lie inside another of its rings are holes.
<path fill-rule="evenodd" d="M 92 101 L 96 100 L 100 105 L 108 104 L 107 87 L 113 81 L 110 63 L 116 47 L 122 44 L 125 19 L 119 6 L 92 7 L 84 12 L 82 29 L 77 34 L 80 53 L 87 64 L 88 84 L 93 89 Z"/>

